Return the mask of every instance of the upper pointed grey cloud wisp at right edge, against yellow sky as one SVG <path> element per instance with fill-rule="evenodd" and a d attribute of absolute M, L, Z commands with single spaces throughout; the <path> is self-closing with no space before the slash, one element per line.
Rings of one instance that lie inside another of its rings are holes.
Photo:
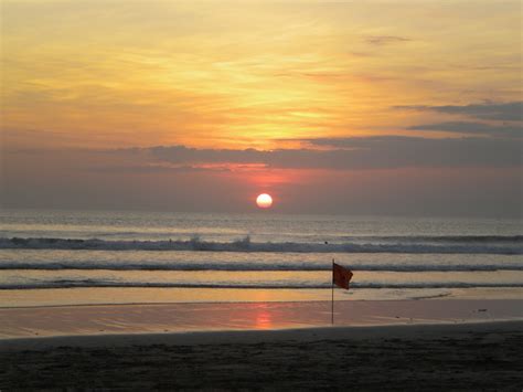
<path fill-rule="evenodd" d="M 485 103 L 470 104 L 465 106 L 445 105 L 445 106 L 394 106 L 396 109 L 407 110 L 430 110 L 449 115 L 465 115 L 472 118 L 485 120 L 521 121 L 523 120 L 523 102 L 509 102 L 504 104 Z"/>

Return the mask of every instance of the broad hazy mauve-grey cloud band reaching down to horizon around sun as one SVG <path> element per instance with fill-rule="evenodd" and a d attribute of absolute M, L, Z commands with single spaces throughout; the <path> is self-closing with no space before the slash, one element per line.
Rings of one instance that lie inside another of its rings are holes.
<path fill-rule="evenodd" d="M 257 191 L 269 191 L 282 212 L 521 214 L 514 140 L 391 135 L 302 142 L 308 148 L 274 151 L 25 150 L 3 167 L 0 200 L 4 208 L 247 212 Z"/>

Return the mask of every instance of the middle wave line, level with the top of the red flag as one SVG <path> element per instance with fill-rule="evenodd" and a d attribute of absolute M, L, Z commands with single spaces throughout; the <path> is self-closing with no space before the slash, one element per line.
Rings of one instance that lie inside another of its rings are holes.
<path fill-rule="evenodd" d="M 456 264 L 456 265 L 436 265 L 436 264 L 354 264 L 350 266 L 353 271 L 362 272 L 494 272 L 494 271 L 523 271 L 523 264 Z M 227 272 L 248 272 L 248 271 L 303 271 L 322 272 L 331 271 L 330 264 L 262 264 L 262 263 L 206 263 L 206 264 L 130 264 L 130 263 L 1 263 L 0 271 L 9 269 L 39 269 L 39 271 L 227 271 Z"/>

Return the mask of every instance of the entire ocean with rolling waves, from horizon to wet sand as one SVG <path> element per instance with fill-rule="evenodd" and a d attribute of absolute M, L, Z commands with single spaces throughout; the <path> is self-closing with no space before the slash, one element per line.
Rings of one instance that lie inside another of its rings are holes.
<path fill-rule="evenodd" d="M 0 211 L 0 306 L 522 298 L 521 220 Z"/>

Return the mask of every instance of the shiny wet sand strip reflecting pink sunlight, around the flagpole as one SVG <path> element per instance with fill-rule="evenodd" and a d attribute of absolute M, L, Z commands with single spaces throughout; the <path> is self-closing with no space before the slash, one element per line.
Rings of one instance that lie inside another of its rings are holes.
<path fill-rule="evenodd" d="M 0 308 L 0 338 L 325 327 L 330 301 Z M 523 300 L 344 300 L 335 326 L 523 320 Z"/>

